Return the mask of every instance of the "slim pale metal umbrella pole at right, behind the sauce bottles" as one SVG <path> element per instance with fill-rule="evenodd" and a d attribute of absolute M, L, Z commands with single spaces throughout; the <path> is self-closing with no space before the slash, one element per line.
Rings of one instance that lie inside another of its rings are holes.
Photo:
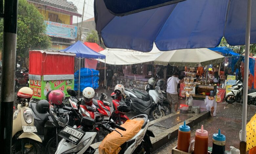
<path fill-rule="evenodd" d="M 243 96 L 243 117 L 240 152 L 246 153 L 246 120 L 247 120 L 247 94 L 248 94 L 248 72 L 249 72 L 249 53 L 250 53 L 250 29 L 251 29 L 251 0 L 247 0 L 247 19 L 245 31 L 245 74 L 244 74 L 244 96 Z"/>

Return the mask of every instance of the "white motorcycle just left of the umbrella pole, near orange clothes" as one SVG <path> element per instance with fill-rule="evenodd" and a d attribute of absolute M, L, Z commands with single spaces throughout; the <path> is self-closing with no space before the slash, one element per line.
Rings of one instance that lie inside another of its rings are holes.
<path fill-rule="evenodd" d="M 238 80 L 235 85 L 230 87 L 230 92 L 226 94 L 226 102 L 232 104 L 235 101 L 241 100 L 243 89 L 243 83 Z"/>

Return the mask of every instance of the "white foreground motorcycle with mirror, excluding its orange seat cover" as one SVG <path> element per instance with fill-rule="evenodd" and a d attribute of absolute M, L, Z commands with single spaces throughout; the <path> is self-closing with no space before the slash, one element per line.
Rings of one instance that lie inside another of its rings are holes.
<path fill-rule="evenodd" d="M 130 108 L 124 105 L 118 106 L 117 109 L 123 113 L 130 111 Z M 141 152 L 145 151 L 146 153 L 150 153 L 150 147 L 152 148 L 150 136 L 151 137 L 155 137 L 155 136 L 152 131 L 147 130 L 149 125 L 148 124 L 149 120 L 147 118 L 147 115 L 144 115 L 144 114 L 138 115 L 132 119 L 135 119 L 135 118 L 143 118 L 144 124 L 142 125 L 141 130 L 132 139 L 130 139 L 129 141 L 126 141 L 124 144 L 121 145 L 122 149 L 119 153 L 124 153 L 124 154 L 131 154 L 133 152 L 138 153 L 139 150 L 141 150 Z M 59 136 L 61 136 L 63 139 L 60 141 L 55 154 L 64 154 L 64 153 L 93 154 L 95 152 L 95 149 L 92 148 L 90 145 L 93 143 L 96 137 L 96 132 L 93 132 L 94 127 L 102 127 L 103 129 L 109 132 L 116 131 L 117 133 L 119 133 L 114 128 L 118 128 L 120 130 L 126 131 L 125 128 L 119 125 L 116 125 L 115 122 L 111 121 L 111 118 L 109 119 L 110 119 L 109 121 L 95 123 L 94 119 L 83 117 L 80 128 L 75 129 L 70 126 L 64 127 L 63 130 L 59 133 Z M 121 133 L 119 134 L 121 135 Z"/>

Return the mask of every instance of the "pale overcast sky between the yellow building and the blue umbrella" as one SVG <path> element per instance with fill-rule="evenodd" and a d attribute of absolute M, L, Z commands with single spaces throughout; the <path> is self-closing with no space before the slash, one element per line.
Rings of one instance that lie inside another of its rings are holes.
<path fill-rule="evenodd" d="M 84 0 L 67 0 L 73 2 L 73 4 L 77 7 L 77 11 L 80 14 L 83 14 L 83 4 Z M 94 0 L 85 0 L 84 6 L 84 21 L 94 17 L 94 10 L 93 10 L 93 3 Z M 82 18 L 78 17 L 78 22 L 81 22 Z M 77 17 L 73 16 L 73 23 L 77 23 Z"/>

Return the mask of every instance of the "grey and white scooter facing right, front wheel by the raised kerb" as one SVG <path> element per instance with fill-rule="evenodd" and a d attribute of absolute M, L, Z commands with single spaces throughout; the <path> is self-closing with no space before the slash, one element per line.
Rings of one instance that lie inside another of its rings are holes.
<path fill-rule="evenodd" d="M 128 96 L 125 103 L 134 111 L 152 116 L 153 119 L 158 119 L 166 115 L 167 110 L 163 107 L 163 94 L 160 87 L 156 86 L 154 90 L 149 90 L 150 100 L 145 102 L 142 98 L 138 98 L 132 92 L 125 90 L 124 94 Z M 169 106 L 168 106 L 169 107 Z"/>

